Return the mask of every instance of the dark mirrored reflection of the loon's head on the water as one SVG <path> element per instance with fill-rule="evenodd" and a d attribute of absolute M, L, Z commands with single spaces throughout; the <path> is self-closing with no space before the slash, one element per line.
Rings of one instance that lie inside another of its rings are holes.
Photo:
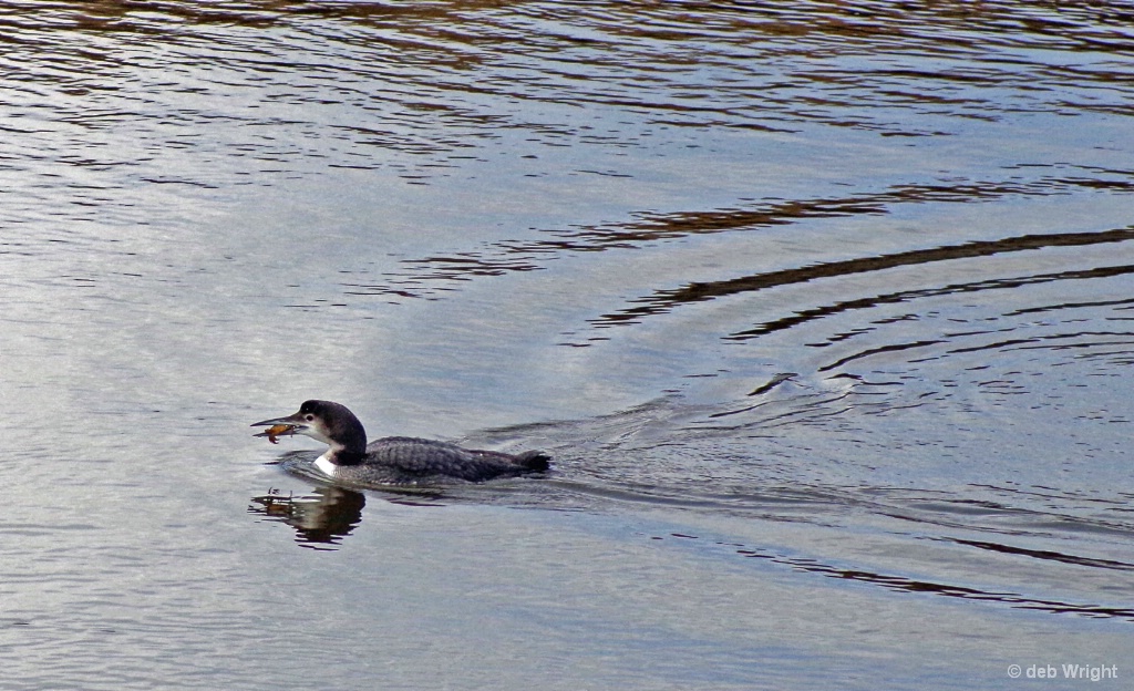
<path fill-rule="evenodd" d="M 296 542 L 313 549 L 338 545 L 362 522 L 366 497 L 340 487 L 316 487 L 313 495 L 296 497 L 270 489 L 253 497 L 248 513 L 286 523 L 295 529 Z"/>

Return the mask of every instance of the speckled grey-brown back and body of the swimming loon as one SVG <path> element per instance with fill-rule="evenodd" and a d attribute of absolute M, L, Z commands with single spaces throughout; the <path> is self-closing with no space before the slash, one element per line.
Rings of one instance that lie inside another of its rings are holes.
<path fill-rule="evenodd" d="M 482 482 L 545 471 L 550 460 L 542 452 L 511 455 L 462 448 L 432 439 L 386 437 L 371 441 L 359 463 L 338 465 L 335 477 L 392 484 L 413 484 L 438 478 Z"/>

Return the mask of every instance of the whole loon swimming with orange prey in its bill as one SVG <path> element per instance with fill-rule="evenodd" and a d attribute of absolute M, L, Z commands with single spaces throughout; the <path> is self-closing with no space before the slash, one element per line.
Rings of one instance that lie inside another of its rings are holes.
<path fill-rule="evenodd" d="M 446 478 L 480 482 L 544 471 L 551 460 L 542 452 L 514 456 L 409 437 L 387 437 L 367 445 L 362 422 L 345 405 L 332 401 L 307 401 L 294 415 L 252 427 L 277 424 L 295 428 L 285 433 L 305 435 L 330 445 L 315 466 L 336 480 L 363 484 L 416 484 Z"/>

